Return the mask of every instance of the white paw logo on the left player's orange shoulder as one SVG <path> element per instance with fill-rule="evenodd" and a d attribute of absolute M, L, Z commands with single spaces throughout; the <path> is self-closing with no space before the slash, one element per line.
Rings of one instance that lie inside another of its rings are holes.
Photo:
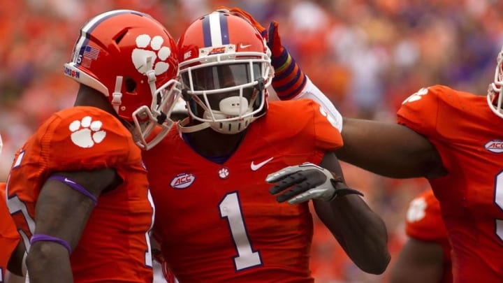
<path fill-rule="evenodd" d="M 101 143 L 106 136 L 101 126 L 101 121 L 93 121 L 90 116 L 83 117 L 80 121 L 75 120 L 68 127 L 72 132 L 70 138 L 78 147 L 93 147 L 96 143 Z"/>

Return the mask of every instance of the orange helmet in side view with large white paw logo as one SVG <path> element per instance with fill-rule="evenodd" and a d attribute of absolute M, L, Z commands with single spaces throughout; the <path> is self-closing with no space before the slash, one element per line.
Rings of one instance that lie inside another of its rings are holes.
<path fill-rule="evenodd" d="M 173 126 L 170 110 L 180 95 L 175 48 L 168 31 L 150 15 L 112 10 L 80 28 L 64 73 L 105 95 L 147 150 Z"/>

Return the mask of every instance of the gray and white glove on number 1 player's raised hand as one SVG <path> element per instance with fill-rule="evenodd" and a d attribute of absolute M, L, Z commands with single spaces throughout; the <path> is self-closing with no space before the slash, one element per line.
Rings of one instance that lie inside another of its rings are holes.
<path fill-rule="evenodd" d="M 288 166 L 275 173 L 269 174 L 265 182 L 275 183 L 269 189 L 270 194 L 283 194 L 276 197 L 278 203 L 288 201 L 290 204 L 302 203 L 310 199 L 333 201 L 337 196 L 345 194 L 359 194 L 360 191 L 351 189 L 344 184 L 340 177 L 334 177 L 329 170 L 312 163 L 304 163 L 297 166 Z"/>

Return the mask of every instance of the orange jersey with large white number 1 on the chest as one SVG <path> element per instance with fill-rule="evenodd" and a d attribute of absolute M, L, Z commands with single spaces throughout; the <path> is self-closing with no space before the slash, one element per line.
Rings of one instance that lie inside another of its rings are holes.
<path fill-rule="evenodd" d="M 313 282 L 313 222 L 307 203 L 277 203 L 265 177 L 319 164 L 342 146 L 339 131 L 309 100 L 269 103 L 224 164 L 197 154 L 174 129 L 143 152 L 154 237 L 180 282 Z"/>

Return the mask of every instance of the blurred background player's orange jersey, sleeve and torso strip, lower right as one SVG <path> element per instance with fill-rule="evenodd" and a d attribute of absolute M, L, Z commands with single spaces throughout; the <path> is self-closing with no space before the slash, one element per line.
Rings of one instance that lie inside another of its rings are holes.
<path fill-rule="evenodd" d="M 411 201 L 405 222 L 405 233 L 411 238 L 436 242 L 444 249 L 442 283 L 452 282 L 451 245 L 442 221 L 440 203 L 432 190 L 423 191 Z"/>

